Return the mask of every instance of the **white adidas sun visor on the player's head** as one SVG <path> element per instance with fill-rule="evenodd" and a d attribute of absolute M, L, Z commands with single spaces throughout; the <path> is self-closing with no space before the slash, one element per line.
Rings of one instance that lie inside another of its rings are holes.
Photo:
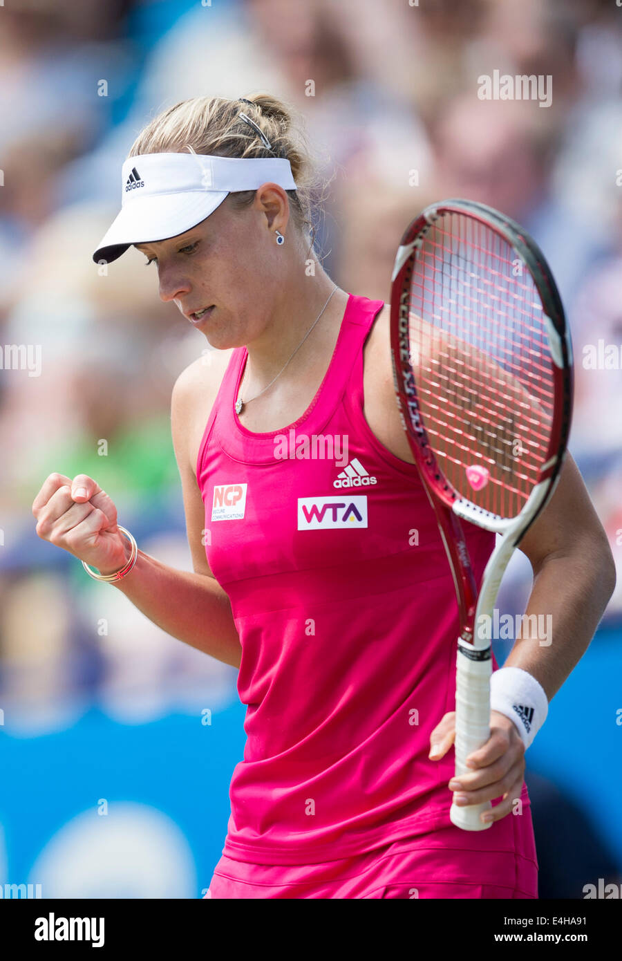
<path fill-rule="evenodd" d="M 140 154 L 121 169 L 121 212 L 100 240 L 95 263 L 111 263 L 135 243 L 185 234 L 209 217 L 228 193 L 262 184 L 295 190 L 289 160 Z"/>

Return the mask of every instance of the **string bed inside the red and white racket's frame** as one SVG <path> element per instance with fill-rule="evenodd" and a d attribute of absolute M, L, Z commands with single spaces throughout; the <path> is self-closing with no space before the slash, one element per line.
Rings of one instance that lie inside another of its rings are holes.
<path fill-rule="evenodd" d="M 445 213 L 414 262 L 410 308 L 418 407 L 439 470 L 460 497 L 515 516 L 547 457 L 553 417 L 531 274 L 501 234 Z"/>

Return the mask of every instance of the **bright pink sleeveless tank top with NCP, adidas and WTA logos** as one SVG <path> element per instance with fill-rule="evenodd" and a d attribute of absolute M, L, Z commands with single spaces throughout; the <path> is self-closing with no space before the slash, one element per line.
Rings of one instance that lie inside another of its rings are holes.
<path fill-rule="evenodd" d="M 281 431 L 239 423 L 236 348 L 199 450 L 206 554 L 242 647 L 224 847 L 240 861 L 309 864 L 450 826 L 454 752 L 428 753 L 455 709 L 458 607 L 416 468 L 362 412 L 383 306 L 349 295 L 324 380 Z M 480 578 L 494 534 L 465 528 Z"/>

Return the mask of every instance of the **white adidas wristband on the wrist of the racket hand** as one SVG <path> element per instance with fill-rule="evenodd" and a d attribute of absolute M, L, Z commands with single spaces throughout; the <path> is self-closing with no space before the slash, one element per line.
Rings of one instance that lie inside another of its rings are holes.
<path fill-rule="evenodd" d="M 527 671 L 502 667 L 490 678 L 490 710 L 514 722 L 527 751 L 546 720 L 549 702 L 542 686 Z"/>

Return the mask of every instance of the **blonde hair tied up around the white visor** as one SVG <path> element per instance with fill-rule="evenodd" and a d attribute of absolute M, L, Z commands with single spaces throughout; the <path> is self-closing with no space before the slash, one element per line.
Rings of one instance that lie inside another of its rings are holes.
<path fill-rule="evenodd" d="M 140 154 L 183 153 L 211 154 L 216 157 L 279 157 L 291 164 L 295 190 L 286 190 L 294 226 L 311 234 L 315 228 L 311 209 L 322 201 L 322 181 L 311 158 L 301 114 L 269 93 L 251 94 L 252 103 L 225 97 L 193 97 L 162 111 L 137 136 L 128 157 Z M 257 124 L 267 137 L 271 149 L 261 136 L 239 114 Z M 250 207 L 255 190 L 241 190 L 227 197 L 235 210 Z M 227 202 L 225 201 L 225 203 Z"/>

